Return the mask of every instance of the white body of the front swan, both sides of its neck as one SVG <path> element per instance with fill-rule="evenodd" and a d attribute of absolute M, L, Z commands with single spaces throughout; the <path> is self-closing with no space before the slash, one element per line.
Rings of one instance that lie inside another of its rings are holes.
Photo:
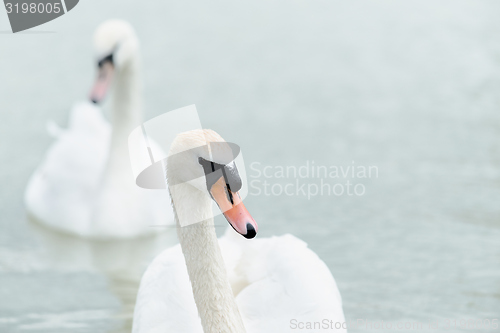
<path fill-rule="evenodd" d="M 246 240 L 232 233 L 219 245 L 247 332 L 295 332 L 293 320 L 344 322 L 335 280 L 306 243 L 292 235 Z M 134 314 L 134 333 L 167 327 L 203 332 L 180 245 L 150 265 Z"/>

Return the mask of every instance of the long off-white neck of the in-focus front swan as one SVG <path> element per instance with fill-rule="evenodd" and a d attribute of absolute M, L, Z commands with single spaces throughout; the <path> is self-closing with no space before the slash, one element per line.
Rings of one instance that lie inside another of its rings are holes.
<path fill-rule="evenodd" d="M 177 234 L 204 332 L 244 333 L 215 234 L 210 198 L 188 184 L 177 185 L 170 193 L 175 203 Z M 178 214 L 201 217 L 203 222 L 181 227 Z"/>

